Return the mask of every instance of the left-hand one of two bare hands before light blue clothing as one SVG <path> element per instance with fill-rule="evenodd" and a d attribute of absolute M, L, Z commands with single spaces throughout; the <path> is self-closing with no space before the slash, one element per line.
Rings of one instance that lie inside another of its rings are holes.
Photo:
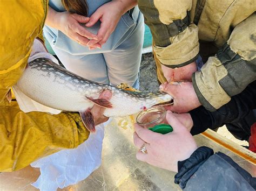
<path fill-rule="evenodd" d="M 62 31 L 66 36 L 72 40 L 77 41 L 77 43 L 87 46 L 90 39 L 97 40 L 96 34 L 87 31 L 80 23 L 89 22 L 89 17 L 84 17 L 82 15 L 72 14 L 69 12 L 58 12 L 55 15 L 57 18 L 56 29 Z"/>

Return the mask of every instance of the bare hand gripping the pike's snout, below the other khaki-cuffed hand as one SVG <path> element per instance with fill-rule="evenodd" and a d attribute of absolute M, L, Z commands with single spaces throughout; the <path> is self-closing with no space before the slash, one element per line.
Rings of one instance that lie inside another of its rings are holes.
<path fill-rule="evenodd" d="M 173 97 L 173 104 L 167 106 L 167 110 L 177 113 L 188 112 L 201 105 L 194 91 L 192 82 L 181 82 L 177 85 L 165 82 L 161 84 L 160 90 L 165 91 Z"/>

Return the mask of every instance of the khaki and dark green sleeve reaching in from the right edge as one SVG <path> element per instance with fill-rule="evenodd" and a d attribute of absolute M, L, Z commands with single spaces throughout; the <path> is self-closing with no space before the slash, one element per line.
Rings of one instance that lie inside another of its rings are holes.
<path fill-rule="evenodd" d="M 235 26 L 230 38 L 208 59 L 192 82 L 199 101 L 215 111 L 256 80 L 256 14 Z"/>

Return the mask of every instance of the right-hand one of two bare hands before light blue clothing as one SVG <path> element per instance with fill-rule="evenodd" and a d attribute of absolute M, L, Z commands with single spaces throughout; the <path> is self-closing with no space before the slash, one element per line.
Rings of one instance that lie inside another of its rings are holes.
<path fill-rule="evenodd" d="M 90 17 L 90 22 L 85 26 L 91 27 L 100 20 L 99 31 L 97 33 L 98 40 L 90 40 L 88 46 L 90 49 L 94 49 L 96 45 L 104 45 L 109 39 L 112 32 L 116 29 L 116 26 L 123 15 L 122 4 L 119 1 L 111 1 L 100 6 Z"/>

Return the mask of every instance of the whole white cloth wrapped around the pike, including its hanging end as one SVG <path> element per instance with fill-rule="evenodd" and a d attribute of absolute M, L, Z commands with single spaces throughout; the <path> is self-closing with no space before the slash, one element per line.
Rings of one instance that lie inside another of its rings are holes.
<path fill-rule="evenodd" d="M 41 57 L 58 62 L 46 52 L 41 41 L 36 39 L 29 61 Z M 52 114 L 60 112 L 31 100 L 17 86 L 13 89 L 19 108 L 24 112 L 43 111 Z M 58 187 L 64 188 L 87 178 L 101 164 L 104 125 L 98 125 L 96 129 L 96 133 L 91 133 L 89 139 L 77 148 L 62 150 L 33 162 L 31 166 L 40 168 L 41 175 L 32 185 L 40 190 L 56 190 Z"/>

